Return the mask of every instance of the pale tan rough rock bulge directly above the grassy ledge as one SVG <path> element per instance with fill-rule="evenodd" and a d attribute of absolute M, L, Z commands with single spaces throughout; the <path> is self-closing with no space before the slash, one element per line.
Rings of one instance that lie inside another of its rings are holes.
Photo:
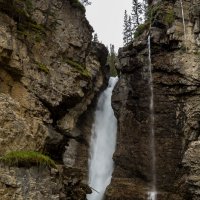
<path fill-rule="evenodd" d="M 32 123 L 21 113 L 21 106 L 10 96 L 0 94 L 0 154 L 13 150 L 38 149 L 44 145 L 41 137 L 47 129 L 40 119 L 32 118 Z"/>

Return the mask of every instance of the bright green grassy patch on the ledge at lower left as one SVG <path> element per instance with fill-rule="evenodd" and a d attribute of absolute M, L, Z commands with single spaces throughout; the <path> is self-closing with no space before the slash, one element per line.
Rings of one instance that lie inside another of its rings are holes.
<path fill-rule="evenodd" d="M 0 157 L 0 162 L 8 166 L 47 166 L 56 168 L 55 162 L 48 156 L 35 151 L 13 151 Z"/>

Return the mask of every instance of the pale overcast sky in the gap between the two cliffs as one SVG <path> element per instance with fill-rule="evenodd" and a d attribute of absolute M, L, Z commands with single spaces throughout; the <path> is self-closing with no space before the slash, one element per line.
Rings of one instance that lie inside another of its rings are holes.
<path fill-rule="evenodd" d="M 124 11 L 131 13 L 132 0 L 90 0 L 86 17 L 100 42 L 106 46 L 115 45 L 115 51 L 123 46 Z"/>

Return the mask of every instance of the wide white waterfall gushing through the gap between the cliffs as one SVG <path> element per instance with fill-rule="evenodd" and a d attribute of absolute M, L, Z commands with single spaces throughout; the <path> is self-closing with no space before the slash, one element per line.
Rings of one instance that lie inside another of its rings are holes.
<path fill-rule="evenodd" d="M 94 190 L 87 195 L 88 200 L 102 200 L 112 177 L 117 120 L 111 107 L 111 96 L 117 81 L 117 77 L 110 78 L 107 89 L 100 95 L 95 112 L 89 160 L 89 186 Z"/>

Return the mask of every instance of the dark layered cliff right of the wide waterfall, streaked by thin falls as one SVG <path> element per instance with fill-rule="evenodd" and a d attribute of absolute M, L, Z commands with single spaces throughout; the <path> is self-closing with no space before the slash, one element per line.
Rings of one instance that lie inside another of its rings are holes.
<path fill-rule="evenodd" d="M 112 104 L 118 118 L 115 171 L 106 199 L 147 199 L 151 190 L 151 35 L 158 199 L 200 199 L 200 1 L 149 1 L 149 23 L 120 49 L 120 78 Z"/>

